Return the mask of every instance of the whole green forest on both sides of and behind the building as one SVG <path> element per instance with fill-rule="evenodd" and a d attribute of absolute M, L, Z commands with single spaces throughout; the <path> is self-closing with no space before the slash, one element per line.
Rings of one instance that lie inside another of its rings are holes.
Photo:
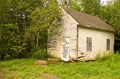
<path fill-rule="evenodd" d="M 101 6 L 99 0 L 64 0 L 67 8 L 98 16 L 115 31 L 115 51 L 120 51 L 120 1 Z M 46 59 L 49 27 L 57 27 L 61 11 L 56 0 L 0 0 L 0 60 Z"/>

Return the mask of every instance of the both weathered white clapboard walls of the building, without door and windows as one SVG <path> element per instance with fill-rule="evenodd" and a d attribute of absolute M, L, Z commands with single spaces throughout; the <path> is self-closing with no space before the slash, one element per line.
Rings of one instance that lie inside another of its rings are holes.
<path fill-rule="evenodd" d="M 93 30 L 77 26 L 78 22 L 73 19 L 64 9 L 62 9 L 61 17 L 62 25 L 59 26 L 58 33 L 48 43 L 48 52 L 58 58 L 68 61 L 69 58 L 77 59 L 83 56 L 84 59 L 94 59 L 100 53 L 106 53 L 106 39 L 110 39 L 110 51 L 114 49 L 114 33 L 100 30 Z M 77 38 L 78 36 L 78 38 Z M 92 52 L 86 52 L 86 37 L 92 37 Z M 63 58 L 62 51 L 66 38 L 69 38 L 69 54 Z M 55 43 L 56 42 L 56 43 Z M 54 44 L 55 43 L 55 44 Z"/>

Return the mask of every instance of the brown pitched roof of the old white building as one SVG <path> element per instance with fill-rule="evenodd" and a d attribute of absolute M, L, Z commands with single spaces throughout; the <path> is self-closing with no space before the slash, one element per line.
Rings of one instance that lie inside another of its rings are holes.
<path fill-rule="evenodd" d="M 105 31 L 111 31 L 114 32 L 115 30 L 113 27 L 105 23 L 103 20 L 96 16 L 91 16 L 85 13 L 81 13 L 79 11 L 70 10 L 63 8 L 71 17 L 73 17 L 80 26 L 88 27 L 88 28 L 94 28 L 94 29 L 100 29 Z"/>

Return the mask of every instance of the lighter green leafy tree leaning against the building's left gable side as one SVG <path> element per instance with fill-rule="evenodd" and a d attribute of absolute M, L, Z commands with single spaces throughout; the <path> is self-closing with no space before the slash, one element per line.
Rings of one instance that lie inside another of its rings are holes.
<path fill-rule="evenodd" d="M 45 3 L 45 2 L 44 2 Z M 60 16 L 60 10 L 56 0 L 51 0 L 42 7 L 36 8 L 31 14 L 31 26 L 27 30 L 28 37 L 33 42 L 33 47 L 47 46 L 48 29 L 50 26 L 55 26 L 55 20 Z"/>

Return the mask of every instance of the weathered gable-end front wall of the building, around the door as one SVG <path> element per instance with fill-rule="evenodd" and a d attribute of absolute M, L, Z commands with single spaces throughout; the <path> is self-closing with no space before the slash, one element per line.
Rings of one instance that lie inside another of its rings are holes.
<path fill-rule="evenodd" d="M 54 42 L 49 42 L 49 44 L 53 47 L 49 47 L 48 51 L 51 55 L 55 57 L 61 58 L 61 53 L 63 49 L 63 44 L 65 44 L 65 41 L 69 39 L 69 57 L 76 58 L 77 57 L 77 22 L 66 12 L 62 9 L 63 15 L 62 15 L 62 25 L 59 28 L 60 36 L 56 35 L 57 39 L 52 39 L 51 41 L 56 42 L 56 45 L 54 45 Z M 49 36 L 50 37 L 50 36 Z"/>

